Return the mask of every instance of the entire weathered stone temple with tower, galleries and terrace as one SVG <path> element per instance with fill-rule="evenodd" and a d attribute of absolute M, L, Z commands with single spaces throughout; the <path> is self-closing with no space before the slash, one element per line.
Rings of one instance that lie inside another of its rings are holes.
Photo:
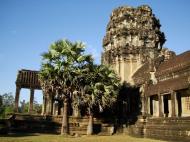
<path fill-rule="evenodd" d="M 166 39 L 160 27 L 147 5 L 113 10 L 103 38 L 101 61 L 120 76 L 123 88 L 115 107 L 116 117 L 110 121 L 105 115 L 94 118 L 95 134 L 190 140 L 190 51 L 176 55 L 163 48 Z M 30 89 L 29 113 L 32 112 L 35 89 L 41 89 L 38 73 L 18 72 L 16 112 L 22 88 Z M 11 131 L 59 133 L 62 110 L 63 103 L 44 92 L 42 115 L 15 113 Z M 69 133 L 86 134 L 85 113 L 69 115 Z"/>

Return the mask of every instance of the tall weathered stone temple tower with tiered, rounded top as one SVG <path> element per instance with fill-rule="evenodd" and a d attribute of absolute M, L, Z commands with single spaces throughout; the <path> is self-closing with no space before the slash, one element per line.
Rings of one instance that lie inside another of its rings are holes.
<path fill-rule="evenodd" d="M 160 54 L 165 42 L 160 27 L 147 5 L 113 10 L 103 39 L 102 63 L 111 65 L 122 82 L 132 85 L 137 69 Z"/>

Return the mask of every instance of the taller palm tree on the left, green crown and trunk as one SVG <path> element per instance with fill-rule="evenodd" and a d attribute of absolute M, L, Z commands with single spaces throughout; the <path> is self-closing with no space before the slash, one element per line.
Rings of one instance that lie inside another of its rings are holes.
<path fill-rule="evenodd" d="M 48 52 L 42 54 L 43 62 L 40 80 L 44 92 L 56 94 L 63 101 L 63 119 L 61 134 L 68 134 L 68 100 L 73 92 L 80 88 L 80 69 L 93 62 L 90 55 L 84 55 L 84 44 L 59 40 L 50 46 Z M 76 81 L 78 83 L 76 84 Z"/>

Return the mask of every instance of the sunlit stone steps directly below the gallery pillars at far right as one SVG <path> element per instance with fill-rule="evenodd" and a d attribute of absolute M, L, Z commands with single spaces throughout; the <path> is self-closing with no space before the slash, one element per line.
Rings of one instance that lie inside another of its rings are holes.
<path fill-rule="evenodd" d="M 151 118 L 144 127 L 144 137 L 172 141 L 190 141 L 189 118 Z"/>

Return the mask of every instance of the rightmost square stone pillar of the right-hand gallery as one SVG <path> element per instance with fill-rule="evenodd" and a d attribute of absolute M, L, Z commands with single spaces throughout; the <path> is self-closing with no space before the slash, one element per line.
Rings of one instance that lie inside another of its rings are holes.
<path fill-rule="evenodd" d="M 171 92 L 171 107 L 172 107 L 172 117 L 176 117 L 177 116 L 177 93 L 175 91 Z"/>

